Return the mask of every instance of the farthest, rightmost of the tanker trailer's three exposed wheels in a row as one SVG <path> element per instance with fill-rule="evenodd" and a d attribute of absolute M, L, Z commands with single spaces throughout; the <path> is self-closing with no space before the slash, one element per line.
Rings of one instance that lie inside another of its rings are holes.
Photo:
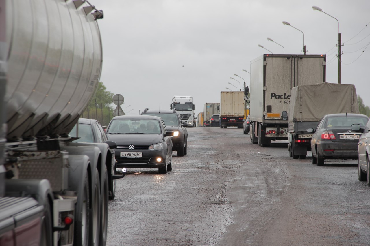
<path fill-rule="evenodd" d="M 107 167 L 104 166 L 103 176 L 104 182 L 101 189 L 101 227 L 100 227 L 100 243 L 99 245 L 105 246 L 107 243 L 107 232 L 108 232 L 108 171 Z"/>

